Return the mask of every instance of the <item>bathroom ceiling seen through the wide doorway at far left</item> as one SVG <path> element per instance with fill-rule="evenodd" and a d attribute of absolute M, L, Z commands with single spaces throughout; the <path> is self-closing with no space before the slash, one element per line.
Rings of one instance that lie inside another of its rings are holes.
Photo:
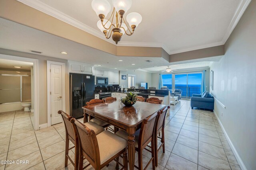
<path fill-rule="evenodd" d="M 15 68 L 14 66 L 21 66 L 21 68 Z M 24 62 L 24 61 L 0 59 L 0 68 L 12 68 L 12 69 L 16 69 L 16 70 L 30 70 L 31 66 L 33 66 L 33 63 Z"/>

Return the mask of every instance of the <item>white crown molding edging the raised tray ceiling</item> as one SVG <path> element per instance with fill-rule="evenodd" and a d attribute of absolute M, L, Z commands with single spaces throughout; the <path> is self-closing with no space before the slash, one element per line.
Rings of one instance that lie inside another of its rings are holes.
<path fill-rule="evenodd" d="M 45 14 L 48 14 L 49 16 L 52 16 L 54 18 L 57 18 L 58 20 L 64 21 L 74 27 L 77 27 L 83 31 L 86 31 L 100 39 L 103 39 L 109 43 L 112 43 L 114 45 L 116 45 L 114 43 L 114 41 L 111 41 L 109 39 L 106 39 L 105 36 L 98 30 L 64 14 L 63 12 L 60 12 L 54 8 L 52 8 L 51 6 L 48 6 L 44 3 L 42 3 L 39 0 L 17 0 L 18 2 L 21 2 L 27 6 L 30 6 L 36 10 L 39 10 Z M 130 46 L 130 47 L 161 47 L 162 49 L 164 49 L 169 55 L 172 54 L 176 54 L 176 53 L 183 53 L 183 52 L 187 52 L 187 51 L 193 51 L 193 50 L 198 50 L 198 49 L 204 49 L 204 48 L 208 48 L 208 47 L 214 47 L 214 46 L 218 46 L 218 45 L 224 45 L 228 39 L 228 37 L 230 36 L 230 34 L 232 33 L 232 31 L 234 30 L 234 28 L 236 27 L 238 21 L 240 20 L 240 18 L 242 17 L 242 15 L 244 14 L 244 11 L 246 10 L 246 8 L 248 7 L 248 5 L 250 4 L 251 0 L 241 0 L 240 4 L 238 5 L 238 8 L 230 22 L 230 25 L 228 26 L 228 29 L 226 30 L 226 33 L 224 35 L 224 37 L 222 38 L 222 41 L 216 42 L 216 43 L 210 43 L 210 44 L 206 44 L 206 45 L 199 45 L 196 47 L 189 47 L 186 49 L 180 49 L 180 50 L 176 50 L 176 51 L 171 51 L 168 47 L 166 47 L 166 45 L 164 45 L 163 43 L 148 43 L 148 42 L 128 42 L 128 41 L 122 41 L 119 42 L 117 46 Z"/>

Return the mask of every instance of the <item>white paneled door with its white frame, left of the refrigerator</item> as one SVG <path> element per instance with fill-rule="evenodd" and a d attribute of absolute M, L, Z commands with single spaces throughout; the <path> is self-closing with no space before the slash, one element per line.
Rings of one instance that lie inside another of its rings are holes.
<path fill-rule="evenodd" d="M 47 61 L 48 126 L 62 122 L 59 110 L 65 111 L 65 63 Z"/>

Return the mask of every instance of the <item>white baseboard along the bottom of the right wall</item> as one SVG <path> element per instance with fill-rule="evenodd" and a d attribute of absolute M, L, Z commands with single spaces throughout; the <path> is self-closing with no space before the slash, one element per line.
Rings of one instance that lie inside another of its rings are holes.
<path fill-rule="evenodd" d="M 230 138 L 228 137 L 228 134 L 226 133 L 226 131 L 225 131 L 225 129 L 224 129 L 224 126 L 223 126 L 222 123 L 220 122 L 220 119 L 219 119 L 218 115 L 216 114 L 215 110 L 213 110 L 213 112 L 214 112 L 214 115 L 215 115 L 215 116 L 217 117 L 217 119 L 218 119 L 218 122 L 219 122 L 219 124 L 220 124 L 220 127 L 221 127 L 221 129 L 222 129 L 222 131 L 223 131 L 223 133 L 224 133 L 224 135 L 225 135 L 227 141 L 228 141 L 228 144 L 230 145 L 230 148 L 232 149 L 232 151 L 233 151 L 233 153 L 234 153 L 234 156 L 236 157 L 236 160 L 237 160 L 237 162 L 238 162 L 238 164 L 239 164 L 241 170 L 247 170 L 246 167 L 245 167 L 245 165 L 244 165 L 244 162 L 242 161 L 242 159 L 240 158 L 238 152 L 236 151 L 236 148 L 234 147 L 233 143 L 231 142 Z"/>

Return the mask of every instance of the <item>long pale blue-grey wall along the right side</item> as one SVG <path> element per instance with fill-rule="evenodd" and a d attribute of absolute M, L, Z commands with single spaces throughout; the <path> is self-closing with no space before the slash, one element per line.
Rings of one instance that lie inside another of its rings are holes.
<path fill-rule="evenodd" d="M 256 170 L 256 0 L 226 42 L 224 57 L 210 70 L 211 93 L 226 106 L 215 102 L 214 111 L 245 167 Z"/>

